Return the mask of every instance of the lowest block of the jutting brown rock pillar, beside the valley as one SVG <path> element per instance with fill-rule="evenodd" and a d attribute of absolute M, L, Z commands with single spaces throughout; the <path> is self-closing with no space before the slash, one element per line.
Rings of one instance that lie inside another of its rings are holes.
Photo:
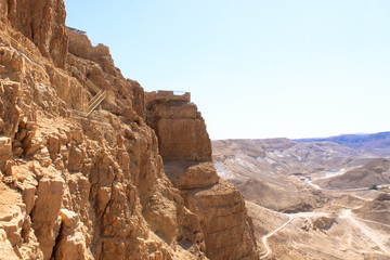
<path fill-rule="evenodd" d="M 210 188 L 184 192 L 186 206 L 202 216 L 206 256 L 210 259 L 258 259 L 243 195 L 220 181 Z"/>

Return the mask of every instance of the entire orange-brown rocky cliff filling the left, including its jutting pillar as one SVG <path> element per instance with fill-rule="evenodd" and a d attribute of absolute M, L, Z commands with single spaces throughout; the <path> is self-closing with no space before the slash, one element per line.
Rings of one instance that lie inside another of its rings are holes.
<path fill-rule="evenodd" d="M 62 0 L 0 10 L 0 259 L 256 259 L 195 105 L 145 95 Z M 89 117 L 75 72 L 107 93 Z"/>

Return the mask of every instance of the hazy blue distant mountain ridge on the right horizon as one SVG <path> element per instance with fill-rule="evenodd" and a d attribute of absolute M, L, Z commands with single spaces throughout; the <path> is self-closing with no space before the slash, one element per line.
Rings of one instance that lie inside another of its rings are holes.
<path fill-rule="evenodd" d="M 296 139 L 298 142 L 334 142 L 354 150 L 364 150 L 379 156 L 388 155 L 390 152 L 390 132 L 340 134 L 329 138 Z"/>

